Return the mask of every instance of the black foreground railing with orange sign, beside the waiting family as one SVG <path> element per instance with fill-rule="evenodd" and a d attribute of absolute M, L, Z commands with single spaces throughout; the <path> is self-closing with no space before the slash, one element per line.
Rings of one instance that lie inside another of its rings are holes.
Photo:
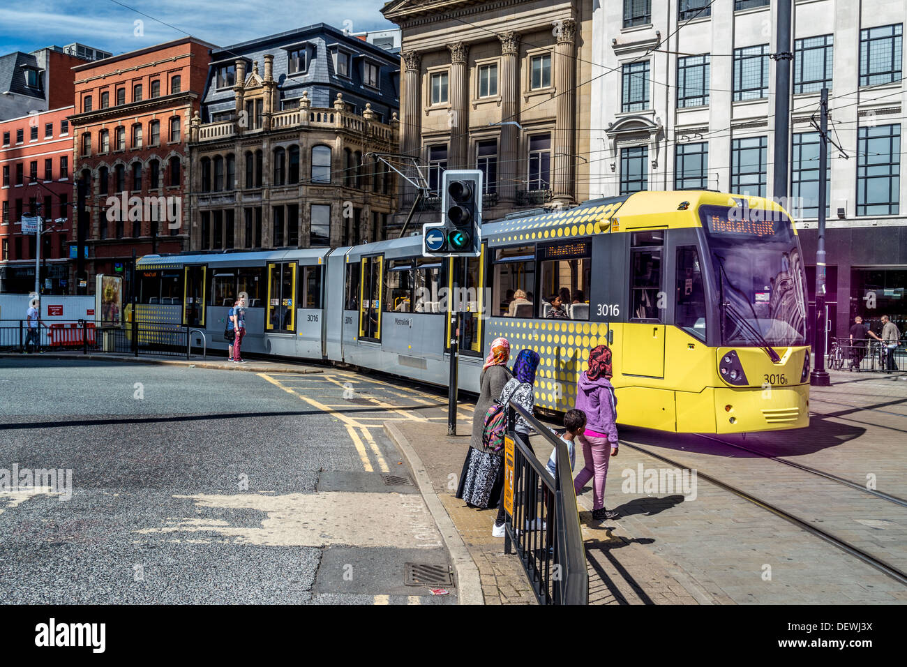
<path fill-rule="evenodd" d="M 589 571 L 570 455 L 561 438 L 514 402 L 504 445 L 504 552 L 516 551 L 540 604 L 588 604 Z M 557 475 L 513 430 L 519 413 L 557 450 Z"/>

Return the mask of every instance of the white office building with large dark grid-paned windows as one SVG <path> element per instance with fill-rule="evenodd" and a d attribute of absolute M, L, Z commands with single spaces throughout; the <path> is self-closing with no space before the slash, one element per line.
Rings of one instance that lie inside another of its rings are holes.
<path fill-rule="evenodd" d="M 590 194 L 711 189 L 775 196 L 779 0 L 593 0 Z M 792 0 L 789 208 L 814 264 L 819 94 L 829 88 L 833 332 L 907 306 L 907 0 Z M 596 78 L 597 77 L 597 78 Z M 781 193 L 779 193 L 781 194 Z M 814 271 L 814 268 L 812 269 Z M 810 282 L 812 288 L 812 275 Z M 872 291 L 875 309 L 866 309 Z M 812 294 L 811 294 L 812 299 Z"/>

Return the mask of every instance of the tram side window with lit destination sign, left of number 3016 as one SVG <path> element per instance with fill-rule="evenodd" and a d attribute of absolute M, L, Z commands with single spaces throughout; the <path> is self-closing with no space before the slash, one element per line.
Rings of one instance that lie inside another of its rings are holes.
<path fill-rule="evenodd" d="M 592 280 L 591 241 L 571 241 L 540 249 L 543 319 L 589 320 Z"/>

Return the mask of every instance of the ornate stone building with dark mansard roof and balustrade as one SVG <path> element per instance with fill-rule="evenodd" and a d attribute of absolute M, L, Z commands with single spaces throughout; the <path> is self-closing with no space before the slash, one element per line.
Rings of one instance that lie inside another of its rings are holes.
<path fill-rule="evenodd" d="M 380 240 L 395 179 L 399 58 L 324 24 L 210 53 L 190 130 L 190 250 Z"/>

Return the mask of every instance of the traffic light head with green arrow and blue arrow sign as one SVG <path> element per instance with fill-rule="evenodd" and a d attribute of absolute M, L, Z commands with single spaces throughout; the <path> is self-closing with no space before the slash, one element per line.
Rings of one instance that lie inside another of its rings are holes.
<path fill-rule="evenodd" d="M 478 169 L 444 172 L 441 222 L 423 226 L 425 257 L 478 257 L 482 249 L 482 177 Z"/>

